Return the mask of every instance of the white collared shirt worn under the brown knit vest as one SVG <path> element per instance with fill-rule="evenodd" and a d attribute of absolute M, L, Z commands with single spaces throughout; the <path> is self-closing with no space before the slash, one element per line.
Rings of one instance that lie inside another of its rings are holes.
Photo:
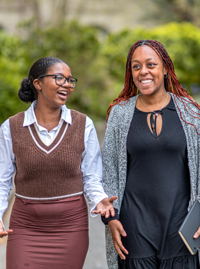
<path fill-rule="evenodd" d="M 34 108 L 37 101 L 34 101 L 29 109 L 25 111 L 23 126 L 29 126 L 33 123 L 37 125 L 40 137 L 47 146 L 55 137 L 61 121 L 72 124 L 71 110 L 65 105 L 61 107 L 61 117 L 59 124 L 47 131 L 46 128 L 38 125 Z M 97 139 L 97 133 L 93 121 L 86 117 L 85 151 L 82 154 L 81 170 L 83 173 L 84 193 L 89 200 L 90 213 L 92 217 L 96 215 L 92 213 L 97 204 L 108 195 L 104 192 L 102 186 L 102 158 Z M 13 144 L 11 138 L 10 122 L 7 119 L 0 127 L 0 221 L 2 222 L 3 214 L 8 207 L 8 197 L 13 188 L 12 176 L 15 174 L 15 155 L 13 153 Z M 3 223 L 3 222 L 2 222 Z"/>

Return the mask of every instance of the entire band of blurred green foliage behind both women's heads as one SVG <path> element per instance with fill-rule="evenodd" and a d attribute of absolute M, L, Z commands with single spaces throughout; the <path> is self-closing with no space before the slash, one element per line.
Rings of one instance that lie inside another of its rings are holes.
<path fill-rule="evenodd" d="M 189 23 L 170 23 L 153 29 L 126 29 L 100 39 L 100 29 L 76 22 L 35 29 L 25 37 L 0 32 L 0 123 L 30 105 L 18 98 L 20 81 L 40 57 L 55 56 L 69 64 L 77 86 L 66 102 L 93 120 L 106 117 L 109 103 L 123 88 L 126 56 L 140 39 L 156 39 L 171 56 L 182 84 L 200 85 L 200 29 Z"/>

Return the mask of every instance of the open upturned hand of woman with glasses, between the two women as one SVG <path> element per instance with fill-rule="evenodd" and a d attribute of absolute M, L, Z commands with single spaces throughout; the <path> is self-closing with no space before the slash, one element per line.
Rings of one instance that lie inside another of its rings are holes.
<path fill-rule="evenodd" d="M 105 218 L 111 216 L 114 217 L 115 211 L 112 202 L 116 200 L 118 197 L 117 196 L 112 196 L 110 198 L 104 198 L 100 203 L 97 204 L 97 210 L 93 210 L 92 213 L 99 214 L 101 213 L 101 216 L 105 216 Z"/>

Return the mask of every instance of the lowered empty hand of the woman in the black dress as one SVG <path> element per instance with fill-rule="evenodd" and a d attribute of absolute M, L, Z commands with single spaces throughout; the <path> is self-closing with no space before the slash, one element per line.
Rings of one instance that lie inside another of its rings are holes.
<path fill-rule="evenodd" d="M 125 259 L 125 256 L 123 255 L 121 250 L 125 254 L 128 254 L 128 251 L 122 245 L 120 235 L 126 236 L 126 232 L 124 231 L 122 224 L 118 220 L 111 220 L 108 222 L 108 225 L 110 227 L 110 232 L 111 232 L 114 248 L 115 248 L 116 252 L 119 254 L 120 258 Z"/>

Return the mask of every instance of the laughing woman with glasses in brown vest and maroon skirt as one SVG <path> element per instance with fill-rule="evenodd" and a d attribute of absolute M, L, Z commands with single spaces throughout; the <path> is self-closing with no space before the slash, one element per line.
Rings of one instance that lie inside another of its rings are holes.
<path fill-rule="evenodd" d="M 114 216 L 102 180 L 101 151 L 94 124 L 66 108 L 77 80 L 61 59 L 37 60 L 23 79 L 25 112 L 0 129 L 0 237 L 8 235 L 7 269 L 83 267 L 92 216 Z M 5 231 L 2 217 L 15 174 L 16 198 Z"/>

